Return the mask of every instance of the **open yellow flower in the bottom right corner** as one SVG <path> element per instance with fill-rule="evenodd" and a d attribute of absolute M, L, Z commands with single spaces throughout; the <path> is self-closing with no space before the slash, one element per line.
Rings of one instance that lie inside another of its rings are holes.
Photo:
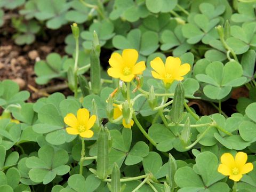
<path fill-rule="evenodd" d="M 243 152 L 238 152 L 235 159 L 230 153 L 225 153 L 220 157 L 220 161 L 222 164 L 219 165 L 218 172 L 228 175 L 229 179 L 234 181 L 239 181 L 243 174 L 253 170 L 253 164 L 246 163 L 247 154 Z"/>

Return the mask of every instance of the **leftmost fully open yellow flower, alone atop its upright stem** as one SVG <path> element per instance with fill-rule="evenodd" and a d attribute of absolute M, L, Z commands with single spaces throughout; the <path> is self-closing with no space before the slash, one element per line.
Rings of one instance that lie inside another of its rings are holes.
<path fill-rule="evenodd" d="M 96 121 L 96 116 L 92 115 L 90 118 L 89 111 L 85 108 L 78 109 L 77 117 L 74 114 L 67 114 L 64 117 L 64 122 L 70 126 L 66 128 L 68 134 L 79 134 L 83 138 L 91 138 L 93 131 L 90 130 Z"/>

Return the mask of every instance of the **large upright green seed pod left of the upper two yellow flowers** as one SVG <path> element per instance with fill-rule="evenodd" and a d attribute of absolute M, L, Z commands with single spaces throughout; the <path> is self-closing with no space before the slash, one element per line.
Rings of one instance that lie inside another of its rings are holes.
<path fill-rule="evenodd" d="M 95 94 L 98 94 L 101 88 L 100 55 L 95 50 L 94 47 L 92 47 L 92 50 L 91 50 L 90 61 L 91 61 L 90 77 L 91 77 L 92 92 Z"/>

